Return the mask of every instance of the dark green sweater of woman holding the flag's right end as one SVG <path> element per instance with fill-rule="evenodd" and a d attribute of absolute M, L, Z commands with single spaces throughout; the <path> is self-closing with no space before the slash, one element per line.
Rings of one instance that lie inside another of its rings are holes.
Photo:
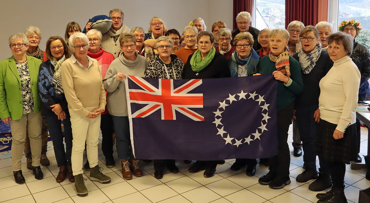
<path fill-rule="evenodd" d="M 277 80 L 277 96 L 276 96 L 276 110 L 279 111 L 292 104 L 296 97 L 303 90 L 303 81 L 301 75 L 300 64 L 293 57 L 289 56 L 290 63 L 290 80 L 292 83 L 285 86 L 283 81 Z M 269 55 L 260 59 L 257 65 L 257 72 L 261 75 L 272 74 L 276 71 L 275 62 L 270 61 Z M 290 82 L 289 82 L 290 83 Z M 288 83 L 288 84 L 289 84 Z"/>

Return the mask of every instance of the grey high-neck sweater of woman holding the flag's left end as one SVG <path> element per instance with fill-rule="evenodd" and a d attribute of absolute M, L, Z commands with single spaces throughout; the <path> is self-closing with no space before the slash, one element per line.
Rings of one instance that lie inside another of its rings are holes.
<path fill-rule="evenodd" d="M 112 61 L 103 79 L 104 89 L 108 92 L 107 107 L 111 115 L 128 116 L 125 79 L 121 82 L 118 81 L 117 73 L 145 77 L 147 60 L 136 52 L 135 55 L 135 61 L 128 61 L 123 57 L 123 54 L 120 54 L 118 58 Z"/>

